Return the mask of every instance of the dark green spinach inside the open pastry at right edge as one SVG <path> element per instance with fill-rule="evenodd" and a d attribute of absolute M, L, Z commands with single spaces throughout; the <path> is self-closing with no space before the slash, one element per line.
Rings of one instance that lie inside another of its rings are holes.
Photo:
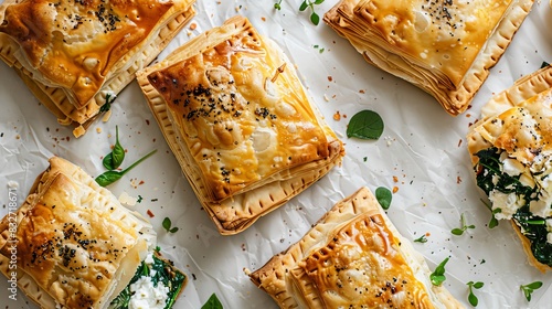
<path fill-rule="evenodd" d="M 531 252 L 538 262 L 552 266 L 552 244 L 546 241 L 548 231 L 545 217 L 534 215 L 530 212 L 531 201 L 539 200 L 539 188 L 524 185 L 520 177 L 509 175 L 501 170 L 501 150 L 496 147 L 481 150 L 476 153 L 479 162 L 475 167 L 477 185 L 489 196 L 496 190 L 506 194 L 514 193 L 522 198 L 523 205 L 517 210 L 512 219 L 521 227 L 523 235 L 531 243 Z"/>

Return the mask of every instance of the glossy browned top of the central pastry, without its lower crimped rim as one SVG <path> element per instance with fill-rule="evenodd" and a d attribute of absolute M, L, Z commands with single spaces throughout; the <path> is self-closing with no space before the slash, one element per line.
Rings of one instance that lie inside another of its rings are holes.
<path fill-rule="evenodd" d="M 286 63 L 276 62 L 261 40 L 242 32 L 148 76 L 213 200 L 329 154 L 308 99 L 285 74 Z"/>

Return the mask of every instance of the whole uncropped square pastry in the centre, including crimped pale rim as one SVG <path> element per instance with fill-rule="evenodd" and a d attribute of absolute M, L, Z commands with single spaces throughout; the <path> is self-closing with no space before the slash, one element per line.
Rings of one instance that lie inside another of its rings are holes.
<path fill-rule="evenodd" d="M 243 17 L 137 76 L 222 234 L 245 230 L 341 161 L 342 143 L 309 102 L 294 65 Z"/>

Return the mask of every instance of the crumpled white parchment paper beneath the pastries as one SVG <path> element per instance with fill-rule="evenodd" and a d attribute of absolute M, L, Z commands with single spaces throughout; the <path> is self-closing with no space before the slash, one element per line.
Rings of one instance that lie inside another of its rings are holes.
<path fill-rule="evenodd" d="M 109 189 L 117 196 L 127 192 L 144 198 L 136 209 L 142 214 L 147 210 L 155 214 L 151 221 L 159 234 L 161 252 L 189 275 L 190 281 L 176 308 L 200 308 L 212 292 L 216 292 L 225 308 L 276 308 L 267 295 L 250 283 L 243 269 L 255 270 L 274 254 L 286 249 L 333 203 L 360 185 L 372 190 L 381 185 L 399 188 L 389 216 L 408 239 L 431 233 L 427 243 L 414 244 L 426 257 L 429 268 L 452 256 L 446 266 L 445 285 L 466 307 L 470 307 L 466 283 L 473 280 L 485 283 L 480 290 L 475 290 L 478 308 L 550 308 L 550 275 L 540 274 L 527 264 L 508 224 L 501 222 L 493 230 L 486 227 L 490 212 L 480 201 L 482 193 L 476 188 L 465 140 L 469 125 L 492 93 L 538 70 L 543 61 L 552 62 L 549 2 L 535 3 L 475 97 L 473 107 L 454 118 L 429 95 L 370 66 L 328 25 L 311 24 L 309 13 L 298 11 L 300 0 L 283 1 L 282 11 L 273 9 L 275 1 L 198 0 L 198 15 L 192 20 L 198 28 L 184 29 L 160 57 L 190 36 L 220 25 L 226 18 L 237 13 L 248 17 L 259 33 L 279 43 L 297 64 L 315 104 L 346 142 L 342 167 L 333 169 L 247 231 L 220 236 L 181 174 L 136 82 L 117 98 L 108 122 L 96 122 L 88 134 L 75 139 L 68 128 L 57 125 L 54 117 L 39 106 L 19 77 L 2 63 L 0 215 L 8 213 L 8 183 L 19 183 L 17 194 L 21 203 L 52 154 L 73 161 L 92 175 L 102 173 L 100 158 L 115 142 L 118 125 L 120 142 L 128 149 L 124 166 L 151 149 L 159 150 Z M 336 2 L 326 0 L 316 11 L 321 17 Z M 372 109 L 382 116 L 385 130 L 380 140 L 346 137 L 350 117 L 362 109 Z M 340 121 L 332 118 L 336 111 L 343 116 Z M 144 183 L 135 188 L 132 181 Z M 461 213 L 476 228 L 454 236 L 450 230 L 459 227 Z M 180 231 L 167 234 L 161 227 L 166 216 L 170 216 Z M 527 302 L 520 285 L 534 280 L 544 285 L 533 294 L 531 302 Z M 18 301 L 9 300 L 7 288 L 7 280 L 0 279 L 2 306 L 34 308 L 20 291 Z"/>

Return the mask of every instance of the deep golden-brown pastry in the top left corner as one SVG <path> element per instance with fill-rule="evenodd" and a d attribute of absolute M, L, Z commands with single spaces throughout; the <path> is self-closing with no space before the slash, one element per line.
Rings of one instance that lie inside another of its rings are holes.
<path fill-rule="evenodd" d="M 78 137 L 193 17 L 192 3 L 6 0 L 0 57 Z"/>

